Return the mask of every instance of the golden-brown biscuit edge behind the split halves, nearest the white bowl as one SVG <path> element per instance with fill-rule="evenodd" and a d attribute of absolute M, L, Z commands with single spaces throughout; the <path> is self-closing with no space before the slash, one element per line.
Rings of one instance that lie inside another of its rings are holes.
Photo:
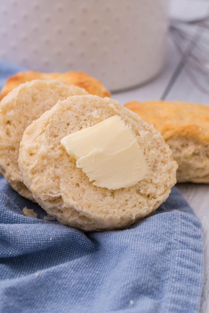
<path fill-rule="evenodd" d="M 74 85 L 84 88 L 89 94 L 100 97 L 109 97 L 109 91 L 102 83 L 83 72 L 66 72 L 66 73 L 40 73 L 34 71 L 19 72 L 8 78 L 0 94 L 0 100 L 5 97 L 11 90 L 27 81 L 40 80 L 60 80 L 65 85 Z"/>

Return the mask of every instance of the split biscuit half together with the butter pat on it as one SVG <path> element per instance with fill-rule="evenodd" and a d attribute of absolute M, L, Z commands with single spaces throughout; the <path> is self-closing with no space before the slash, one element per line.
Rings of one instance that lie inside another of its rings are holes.
<path fill-rule="evenodd" d="M 85 231 L 130 226 L 176 182 L 160 133 L 118 101 L 93 95 L 58 101 L 29 125 L 18 163 L 42 208 Z"/>

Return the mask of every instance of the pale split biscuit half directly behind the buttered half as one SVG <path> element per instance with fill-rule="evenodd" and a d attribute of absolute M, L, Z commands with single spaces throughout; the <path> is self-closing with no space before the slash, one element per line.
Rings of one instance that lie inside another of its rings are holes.
<path fill-rule="evenodd" d="M 19 194 L 33 200 L 18 167 L 19 143 L 25 128 L 59 99 L 87 91 L 58 80 L 33 80 L 13 89 L 0 102 L 0 173 Z"/>

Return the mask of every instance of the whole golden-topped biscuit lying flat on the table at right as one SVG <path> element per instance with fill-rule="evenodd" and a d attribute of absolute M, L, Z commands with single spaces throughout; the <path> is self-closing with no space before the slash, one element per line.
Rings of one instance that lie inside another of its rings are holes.
<path fill-rule="evenodd" d="M 209 183 L 209 106 L 180 101 L 125 106 L 161 132 L 179 165 L 177 182 Z"/>

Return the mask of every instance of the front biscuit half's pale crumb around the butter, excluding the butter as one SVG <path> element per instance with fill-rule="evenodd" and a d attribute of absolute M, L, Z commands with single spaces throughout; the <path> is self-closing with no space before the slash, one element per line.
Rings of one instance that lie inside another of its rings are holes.
<path fill-rule="evenodd" d="M 114 115 L 131 127 L 148 172 L 132 187 L 109 190 L 89 181 L 60 140 Z M 102 231 L 127 227 L 165 201 L 176 182 L 171 153 L 153 126 L 118 101 L 84 95 L 58 101 L 27 127 L 18 163 L 24 183 L 48 214 L 75 228 Z"/>

